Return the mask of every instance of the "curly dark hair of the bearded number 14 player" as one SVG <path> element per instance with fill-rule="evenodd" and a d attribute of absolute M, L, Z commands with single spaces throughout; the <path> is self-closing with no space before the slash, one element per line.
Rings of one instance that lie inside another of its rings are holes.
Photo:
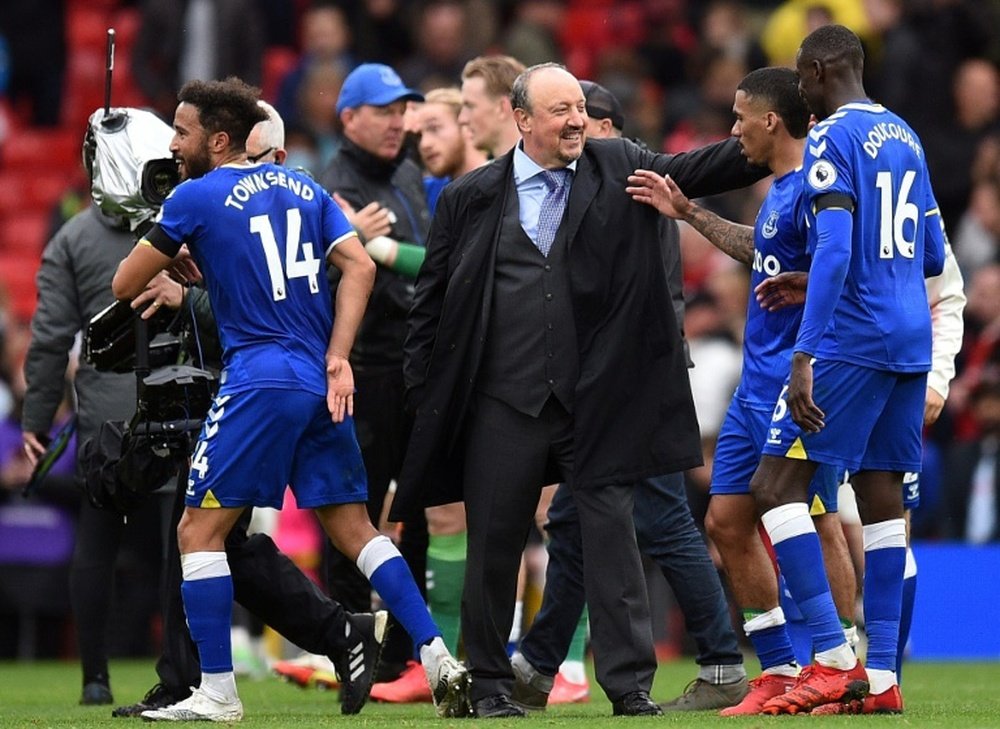
<path fill-rule="evenodd" d="M 201 125 L 210 134 L 225 132 L 229 147 L 246 149 L 250 130 L 257 122 L 267 121 L 267 112 L 258 104 L 260 89 L 236 76 L 224 81 L 188 81 L 177 100 L 198 109 Z"/>

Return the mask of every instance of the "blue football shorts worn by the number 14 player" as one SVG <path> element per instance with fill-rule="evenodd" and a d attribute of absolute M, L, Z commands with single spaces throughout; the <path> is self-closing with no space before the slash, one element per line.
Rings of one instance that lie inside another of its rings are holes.
<path fill-rule="evenodd" d="M 302 508 L 367 501 L 354 420 L 334 423 L 326 398 L 301 390 L 223 388 L 191 457 L 185 503 L 280 509 L 286 485 Z"/>

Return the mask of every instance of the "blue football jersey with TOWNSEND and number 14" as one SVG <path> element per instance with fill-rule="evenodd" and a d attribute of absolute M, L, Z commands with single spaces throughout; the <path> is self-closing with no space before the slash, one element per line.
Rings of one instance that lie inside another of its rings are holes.
<path fill-rule="evenodd" d="M 178 185 L 157 224 L 177 249 L 188 245 L 205 277 L 223 386 L 325 395 L 333 327 L 326 258 L 355 235 L 329 194 L 284 167 L 227 165 Z"/>

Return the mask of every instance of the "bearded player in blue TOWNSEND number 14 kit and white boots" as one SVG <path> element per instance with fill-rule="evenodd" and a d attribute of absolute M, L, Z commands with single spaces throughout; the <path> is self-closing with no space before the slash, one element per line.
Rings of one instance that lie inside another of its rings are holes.
<path fill-rule="evenodd" d="M 199 272 L 223 345 L 221 387 L 192 454 L 177 529 L 181 592 L 202 681 L 189 698 L 143 718 L 242 718 L 224 541 L 245 507 L 280 507 L 286 485 L 300 505 L 315 509 L 334 546 L 355 561 L 419 647 L 438 714 L 467 714 L 468 672 L 448 652 L 409 567 L 365 505 L 348 355 L 375 264 L 321 187 L 248 162 L 245 140 L 267 119 L 258 96 L 237 78 L 181 89 L 170 149 L 184 182 L 112 282 L 116 297 L 132 298 L 164 268 Z M 341 273 L 333 304 L 326 262 Z M 361 691 L 342 706 L 345 713 L 364 705 L 386 622 L 383 612 L 345 626 L 350 655 L 341 678 Z"/>

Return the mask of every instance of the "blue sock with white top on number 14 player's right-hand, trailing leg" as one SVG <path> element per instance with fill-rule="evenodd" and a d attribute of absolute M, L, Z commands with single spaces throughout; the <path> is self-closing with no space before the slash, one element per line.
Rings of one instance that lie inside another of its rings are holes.
<path fill-rule="evenodd" d="M 372 583 L 389 612 L 410 634 L 415 648 L 441 635 L 409 566 L 388 537 L 377 536 L 364 546 L 358 555 L 358 568 Z"/>

